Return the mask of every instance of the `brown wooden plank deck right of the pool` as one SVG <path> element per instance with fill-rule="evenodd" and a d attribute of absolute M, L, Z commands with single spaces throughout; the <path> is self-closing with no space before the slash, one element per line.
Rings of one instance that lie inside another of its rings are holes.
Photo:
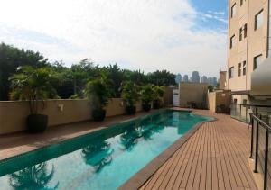
<path fill-rule="evenodd" d="M 204 123 L 141 189 L 257 189 L 248 167 L 248 125 L 227 115 L 196 113 L 218 120 Z"/>

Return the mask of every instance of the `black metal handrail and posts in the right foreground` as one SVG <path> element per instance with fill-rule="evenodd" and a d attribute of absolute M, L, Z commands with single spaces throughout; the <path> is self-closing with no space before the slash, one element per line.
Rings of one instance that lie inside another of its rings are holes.
<path fill-rule="evenodd" d="M 251 129 L 251 147 L 250 147 L 250 158 L 253 158 L 253 148 L 254 148 L 254 128 L 256 122 L 256 146 L 255 146 L 255 162 L 254 162 L 254 172 L 257 173 L 258 165 L 258 144 L 259 144 L 259 127 L 263 127 L 266 130 L 266 142 L 265 142 L 265 164 L 264 164 L 264 190 L 267 189 L 267 176 L 268 176 L 268 149 L 269 149 L 269 133 L 271 132 L 270 124 L 267 124 L 262 120 L 262 114 L 265 113 L 250 113 L 250 123 L 252 125 Z"/>

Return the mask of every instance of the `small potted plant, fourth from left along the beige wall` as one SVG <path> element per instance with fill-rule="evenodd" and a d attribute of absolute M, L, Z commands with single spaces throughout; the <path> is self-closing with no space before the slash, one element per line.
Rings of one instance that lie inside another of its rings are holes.
<path fill-rule="evenodd" d="M 141 90 L 142 108 L 145 112 L 148 112 L 152 108 L 152 101 L 154 99 L 153 86 L 148 84 L 143 86 Z"/>

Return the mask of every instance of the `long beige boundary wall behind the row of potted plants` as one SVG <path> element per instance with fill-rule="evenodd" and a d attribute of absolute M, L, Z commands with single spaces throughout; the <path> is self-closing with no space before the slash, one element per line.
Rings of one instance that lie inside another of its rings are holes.
<path fill-rule="evenodd" d="M 121 98 L 113 98 L 107 106 L 107 117 L 125 113 Z M 88 100 L 48 100 L 41 113 L 49 116 L 49 126 L 91 120 Z M 136 111 L 141 111 L 141 103 Z M 30 114 L 26 101 L 0 101 L 0 135 L 26 130 L 26 117 Z"/>

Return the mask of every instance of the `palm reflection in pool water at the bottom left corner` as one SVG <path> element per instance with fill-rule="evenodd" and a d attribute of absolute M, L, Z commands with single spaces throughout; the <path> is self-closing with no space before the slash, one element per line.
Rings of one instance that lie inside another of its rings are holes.
<path fill-rule="evenodd" d="M 26 167 L 9 175 L 9 183 L 14 189 L 57 189 L 59 183 L 54 187 L 48 186 L 54 172 L 53 165 L 51 172 L 49 172 L 46 162 L 42 162 L 41 164 Z"/>

